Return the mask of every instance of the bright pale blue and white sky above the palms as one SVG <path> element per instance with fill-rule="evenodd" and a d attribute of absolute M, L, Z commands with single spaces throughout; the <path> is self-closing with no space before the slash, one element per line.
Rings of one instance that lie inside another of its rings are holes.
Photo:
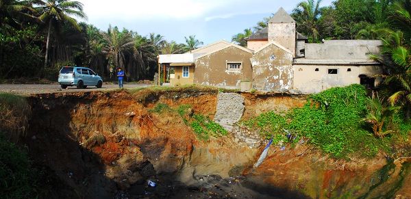
<path fill-rule="evenodd" d="M 109 25 L 142 36 L 161 34 L 167 41 L 185 42 L 195 35 L 204 44 L 231 41 L 232 36 L 256 25 L 283 7 L 288 13 L 301 0 L 78 0 L 84 4 L 86 23 L 101 30 Z M 332 0 L 323 0 L 330 5 Z"/>

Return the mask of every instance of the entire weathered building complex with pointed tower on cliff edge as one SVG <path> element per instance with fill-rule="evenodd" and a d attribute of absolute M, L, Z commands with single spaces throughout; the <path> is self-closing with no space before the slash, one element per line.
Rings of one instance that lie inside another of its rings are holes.
<path fill-rule="evenodd" d="M 369 58 L 379 53 L 382 41 L 310 44 L 283 8 L 246 40 L 247 48 L 220 41 L 186 54 L 160 55 L 159 63 L 164 74 L 174 67 L 171 85 L 240 88 L 242 81 L 251 81 L 260 91 L 310 94 L 353 83 L 373 88 L 382 81 L 375 76 L 382 73 L 381 64 Z"/>

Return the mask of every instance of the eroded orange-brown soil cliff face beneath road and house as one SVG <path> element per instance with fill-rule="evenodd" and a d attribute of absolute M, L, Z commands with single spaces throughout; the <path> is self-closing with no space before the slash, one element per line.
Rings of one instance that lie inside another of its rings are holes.
<path fill-rule="evenodd" d="M 57 176 L 48 198 L 373 198 L 411 197 L 408 159 L 336 161 L 306 143 L 280 150 L 256 170 L 264 148 L 234 137 L 201 141 L 177 111 L 214 116 L 217 90 L 38 94 L 25 144 Z M 304 96 L 245 96 L 245 115 L 301 107 Z M 389 165 L 389 166 L 388 166 Z M 382 174 L 391 176 L 390 180 Z M 392 179 L 392 180 L 391 180 Z M 156 187 L 147 185 L 151 180 Z M 377 193 L 383 194 L 378 195 Z M 391 193 L 393 192 L 393 193 Z"/>

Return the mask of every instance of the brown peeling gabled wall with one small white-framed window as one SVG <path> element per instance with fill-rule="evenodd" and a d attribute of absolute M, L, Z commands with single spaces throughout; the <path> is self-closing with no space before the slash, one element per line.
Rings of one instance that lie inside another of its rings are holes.
<path fill-rule="evenodd" d="M 195 61 L 194 83 L 201 85 L 229 86 L 240 88 L 241 81 L 251 81 L 253 70 L 252 53 L 236 47 L 227 47 Z M 227 62 L 242 63 L 240 70 L 227 69 Z"/>

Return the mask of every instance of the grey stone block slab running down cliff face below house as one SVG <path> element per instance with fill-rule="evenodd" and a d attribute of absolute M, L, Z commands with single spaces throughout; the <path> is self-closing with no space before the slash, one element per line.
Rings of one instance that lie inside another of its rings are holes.
<path fill-rule="evenodd" d="M 244 97 L 236 93 L 220 92 L 217 96 L 217 109 L 214 121 L 227 131 L 232 131 L 233 125 L 240 121 L 244 113 Z"/>

